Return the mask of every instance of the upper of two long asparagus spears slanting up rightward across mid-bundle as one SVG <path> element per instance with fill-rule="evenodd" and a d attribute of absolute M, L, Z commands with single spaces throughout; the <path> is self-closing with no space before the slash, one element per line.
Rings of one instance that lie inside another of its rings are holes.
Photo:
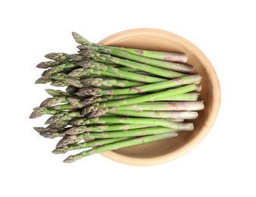
<path fill-rule="evenodd" d="M 196 83 L 198 80 L 201 80 L 200 75 L 191 75 L 187 77 L 176 78 L 175 80 L 169 80 L 166 82 L 153 83 L 144 86 L 131 87 L 127 89 L 99 89 L 99 88 L 81 88 L 79 92 L 81 95 L 128 95 L 128 94 L 137 94 L 142 92 L 150 92 L 153 90 L 167 89 L 180 85 L 187 85 L 191 83 Z"/>

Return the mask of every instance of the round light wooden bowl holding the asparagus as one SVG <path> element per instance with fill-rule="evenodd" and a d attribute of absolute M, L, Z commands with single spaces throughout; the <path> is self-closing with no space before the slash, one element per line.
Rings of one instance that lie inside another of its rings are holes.
<path fill-rule="evenodd" d="M 194 120 L 194 131 L 179 133 L 175 139 L 165 139 L 144 145 L 135 145 L 101 155 L 122 164 L 149 166 L 163 164 L 191 151 L 209 133 L 220 108 L 220 83 L 210 61 L 203 52 L 187 39 L 165 30 L 134 29 L 115 33 L 99 42 L 103 45 L 123 46 L 160 52 L 182 52 L 188 55 L 188 64 L 194 73 L 201 74 L 203 87 L 200 99 L 204 111 Z"/>

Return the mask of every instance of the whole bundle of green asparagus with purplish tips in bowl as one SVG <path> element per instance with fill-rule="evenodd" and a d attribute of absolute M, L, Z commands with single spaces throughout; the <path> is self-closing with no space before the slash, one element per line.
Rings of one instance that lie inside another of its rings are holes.
<path fill-rule="evenodd" d="M 198 100 L 201 76 L 185 64 L 186 55 L 100 45 L 72 34 L 81 44 L 77 54 L 50 53 L 45 57 L 52 61 L 36 66 L 47 69 L 36 83 L 65 91 L 46 89 L 52 97 L 30 115 L 52 115 L 48 127 L 34 130 L 62 137 L 53 153 L 89 148 L 65 163 L 194 130 L 189 120 L 204 102 Z"/>

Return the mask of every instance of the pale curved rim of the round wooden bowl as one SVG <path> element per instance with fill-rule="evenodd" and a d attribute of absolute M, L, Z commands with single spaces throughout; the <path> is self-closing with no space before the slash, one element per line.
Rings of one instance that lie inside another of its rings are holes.
<path fill-rule="evenodd" d="M 213 124 L 215 123 L 216 117 L 218 115 L 218 112 L 220 110 L 220 82 L 216 75 L 216 71 L 214 70 L 213 65 L 210 63 L 209 59 L 204 55 L 201 50 L 194 45 L 192 42 L 188 41 L 187 39 L 183 38 L 182 36 L 179 36 L 175 33 L 171 33 L 166 30 L 160 30 L 160 29 L 153 29 L 153 28 L 137 28 L 137 29 L 131 29 L 131 30 L 123 30 L 119 33 L 114 33 L 105 39 L 100 40 L 100 44 L 103 45 L 111 45 L 112 43 L 121 41 L 123 39 L 127 39 L 131 36 L 136 35 L 144 35 L 147 36 L 156 36 L 156 37 L 163 37 L 168 39 L 169 37 L 172 37 L 172 41 L 179 43 L 179 45 L 182 45 L 184 48 L 190 48 L 192 55 L 198 58 L 198 61 L 200 61 L 201 64 L 204 64 L 204 69 L 207 73 L 207 80 L 210 81 L 210 83 L 213 85 L 212 89 L 212 100 L 214 101 L 211 105 L 211 113 L 207 115 L 207 118 L 205 120 L 204 125 L 201 127 L 201 132 L 198 133 L 198 135 L 194 136 L 193 139 L 191 139 L 188 143 L 185 145 L 182 145 L 179 149 L 175 150 L 174 152 L 167 153 L 166 155 L 161 155 L 158 157 L 153 158 L 136 158 L 136 157 L 130 157 L 127 155 L 122 155 L 117 152 L 102 152 L 100 153 L 106 158 L 111 159 L 112 161 L 116 161 L 122 164 L 128 164 L 128 165 L 134 165 L 134 166 L 151 166 L 156 164 L 164 164 L 169 161 L 173 161 L 176 158 L 180 158 L 183 155 L 190 152 L 192 149 L 194 149 L 207 134 L 210 132 L 211 128 L 213 127 Z M 192 49 L 192 50 L 191 50 Z"/>

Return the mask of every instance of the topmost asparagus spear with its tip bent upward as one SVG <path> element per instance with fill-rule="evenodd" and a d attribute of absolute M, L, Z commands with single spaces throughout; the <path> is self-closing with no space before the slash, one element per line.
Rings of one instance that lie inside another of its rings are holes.
<path fill-rule="evenodd" d="M 75 41 L 79 44 L 82 44 L 78 46 L 79 49 L 85 49 L 84 45 L 92 45 L 96 47 L 103 47 L 103 48 L 112 48 L 115 50 L 119 50 L 122 52 L 128 52 L 130 54 L 134 55 L 141 55 L 143 57 L 147 58 L 154 58 L 154 59 L 160 59 L 165 61 L 178 61 L 185 63 L 187 61 L 187 56 L 182 53 L 172 53 L 172 52 L 153 52 L 148 50 L 141 50 L 141 49 L 135 49 L 135 48 L 123 48 L 123 47 L 115 47 L 115 46 L 108 46 L 108 45 L 100 45 L 95 44 L 93 42 L 89 42 L 87 39 L 84 39 L 81 35 L 78 33 L 72 33 Z"/>

